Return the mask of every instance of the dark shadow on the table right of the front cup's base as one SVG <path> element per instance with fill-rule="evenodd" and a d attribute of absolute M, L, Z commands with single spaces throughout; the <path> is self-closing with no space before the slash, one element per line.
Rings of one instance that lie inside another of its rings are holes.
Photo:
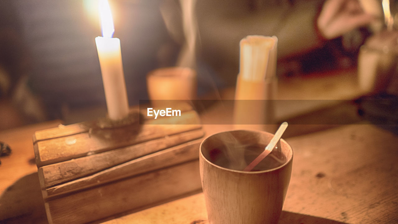
<path fill-rule="evenodd" d="M 346 224 L 345 222 L 338 222 L 335 220 L 321 218 L 316 216 L 310 216 L 305 214 L 299 214 L 294 212 L 282 211 L 281 219 L 279 224 Z"/>

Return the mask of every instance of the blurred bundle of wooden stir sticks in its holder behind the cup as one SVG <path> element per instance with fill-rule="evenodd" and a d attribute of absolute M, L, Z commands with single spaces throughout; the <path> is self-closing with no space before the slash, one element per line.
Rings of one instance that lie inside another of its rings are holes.
<path fill-rule="evenodd" d="M 236 128 L 273 132 L 276 98 L 278 38 L 249 35 L 240 41 L 240 69 L 236 81 Z"/>

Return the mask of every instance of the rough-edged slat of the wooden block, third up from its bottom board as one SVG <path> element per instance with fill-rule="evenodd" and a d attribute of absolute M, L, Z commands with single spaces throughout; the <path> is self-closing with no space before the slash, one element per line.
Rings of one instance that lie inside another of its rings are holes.
<path fill-rule="evenodd" d="M 159 138 L 103 153 L 39 167 L 39 175 L 43 177 L 41 178 L 43 179 L 43 185 L 41 187 L 42 189 L 46 189 L 54 185 L 59 185 L 60 183 L 97 173 L 138 157 L 201 138 L 203 134 L 204 132 L 201 129 L 183 132 L 170 135 L 168 138 Z"/>

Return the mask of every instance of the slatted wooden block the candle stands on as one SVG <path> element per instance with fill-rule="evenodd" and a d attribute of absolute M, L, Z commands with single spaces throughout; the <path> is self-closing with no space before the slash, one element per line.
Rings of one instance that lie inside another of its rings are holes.
<path fill-rule="evenodd" d="M 92 222 L 200 190 L 204 132 L 191 106 L 179 109 L 179 117 L 141 117 L 141 124 L 101 128 L 93 121 L 35 132 L 49 223 Z"/>

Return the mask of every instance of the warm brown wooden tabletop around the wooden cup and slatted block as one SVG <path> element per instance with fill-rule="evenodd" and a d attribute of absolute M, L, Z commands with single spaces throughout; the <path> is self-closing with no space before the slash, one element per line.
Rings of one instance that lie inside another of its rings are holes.
<path fill-rule="evenodd" d="M 355 97 L 357 92 L 347 94 Z M 203 118 L 221 119 L 222 114 L 210 112 Z M 47 223 L 31 138 L 34 131 L 59 123 L 0 132 L 0 141 L 13 150 L 10 156 L 0 158 L 0 223 Z M 289 128 L 301 130 L 304 126 Z M 204 128 L 209 135 L 232 126 Z M 294 157 L 280 224 L 398 223 L 397 135 L 355 121 L 285 139 L 293 147 Z M 194 193 L 96 223 L 207 224 L 206 220 L 203 194 Z"/>

